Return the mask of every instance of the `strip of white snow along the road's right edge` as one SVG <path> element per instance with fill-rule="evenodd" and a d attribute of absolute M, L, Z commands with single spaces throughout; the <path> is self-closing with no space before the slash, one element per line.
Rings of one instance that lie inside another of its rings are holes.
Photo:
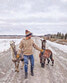
<path fill-rule="evenodd" d="M 51 41 L 48 41 L 47 40 L 47 44 L 53 46 L 53 47 L 56 47 L 58 48 L 59 50 L 63 51 L 63 52 L 66 52 L 67 53 L 67 45 L 61 45 L 61 44 L 57 44 L 55 42 L 51 42 Z"/>

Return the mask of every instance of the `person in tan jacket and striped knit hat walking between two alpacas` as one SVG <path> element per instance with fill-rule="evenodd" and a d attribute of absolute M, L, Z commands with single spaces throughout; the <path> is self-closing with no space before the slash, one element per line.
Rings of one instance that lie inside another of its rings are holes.
<path fill-rule="evenodd" d="M 23 38 L 19 44 L 19 51 L 18 54 L 21 54 L 23 52 L 23 58 L 24 58 L 24 70 L 25 70 L 25 79 L 28 77 L 28 59 L 30 60 L 31 63 L 31 75 L 34 76 L 34 56 L 33 56 L 33 47 L 40 51 L 43 52 L 42 49 L 40 49 L 34 41 L 31 39 L 32 33 L 28 30 L 25 30 L 26 37 Z"/>

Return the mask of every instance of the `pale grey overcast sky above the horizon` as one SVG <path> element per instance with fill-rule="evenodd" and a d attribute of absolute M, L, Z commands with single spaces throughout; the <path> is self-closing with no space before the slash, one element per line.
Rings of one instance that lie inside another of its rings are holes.
<path fill-rule="evenodd" d="M 67 32 L 67 0 L 0 0 L 0 35 Z"/>

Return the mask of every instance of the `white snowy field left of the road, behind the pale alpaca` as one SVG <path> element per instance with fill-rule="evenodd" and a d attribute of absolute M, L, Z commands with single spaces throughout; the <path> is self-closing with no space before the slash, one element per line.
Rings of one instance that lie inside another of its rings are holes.
<path fill-rule="evenodd" d="M 7 51 L 10 48 L 10 41 L 12 40 L 16 45 L 21 41 L 21 39 L 0 39 L 0 52 Z"/>

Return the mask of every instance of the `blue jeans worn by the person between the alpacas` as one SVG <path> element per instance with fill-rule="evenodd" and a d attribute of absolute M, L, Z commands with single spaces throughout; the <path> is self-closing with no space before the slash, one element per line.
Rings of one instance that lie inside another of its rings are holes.
<path fill-rule="evenodd" d="M 28 72 L 28 59 L 30 60 L 31 63 L 31 70 L 34 68 L 34 57 L 33 55 L 24 55 L 24 70 L 25 72 Z"/>

